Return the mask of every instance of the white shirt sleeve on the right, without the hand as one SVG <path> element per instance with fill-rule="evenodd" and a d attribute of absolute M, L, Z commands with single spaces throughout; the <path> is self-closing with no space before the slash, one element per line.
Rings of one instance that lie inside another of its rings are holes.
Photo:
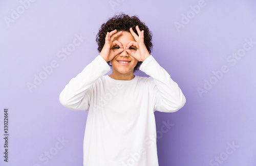
<path fill-rule="evenodd" d="M 184 106 L 186 98 L 181 89 L 152 55 L 143 61 L 139 69 L 153 77 L 150 89 L 153 92 L 154 111 L 171 113 Z"/>

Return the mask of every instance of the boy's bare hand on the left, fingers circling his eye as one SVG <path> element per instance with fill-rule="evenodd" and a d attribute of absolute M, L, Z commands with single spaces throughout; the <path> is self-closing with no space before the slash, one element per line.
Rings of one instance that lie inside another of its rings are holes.
<path fill-rule="evenodd" d="M 118 33 L 116 32 L 117 30 L 106 33 L 105 44 L 99 54 L 106 62 L 111 61 L 115 56 L 124 50 L 122 44 L 119 41 L 114 40 L 117 36 L 122 34 L 122 31 Z M 115 45 L 118 45 L 120 48 L 114 51 L 112 48 Z"/>

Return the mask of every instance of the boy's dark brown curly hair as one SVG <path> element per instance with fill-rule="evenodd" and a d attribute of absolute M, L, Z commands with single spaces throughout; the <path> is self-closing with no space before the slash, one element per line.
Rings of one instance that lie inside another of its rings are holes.
<path fill-rule="evenodd" d="M 103 23 L 101 27 L 99 28 L 99 32 L 96 36 L 96 42 L 98 44 L 98 51 L 101 52 L 104 44 L 105 44 L 105 36 L 107 32 L 111 32 L 114 30 L 118 31 L 126 31 L 130 32 L 130 27 L 132 27 L 133 31 L 138 35 L 136 30 L 136 25 L 139 26 L 140 31 L 144 31 L 144 44 L 148 50 L 149 53 L 151 53 L 152 49 L 152 33 L 148 29 L 148 27 L 145 25 L 144 22 L 141 22 L 138 15 L 130 17 L 129 15 L 126 15 L 124 13 L 121 13 L 119 15 L 115 15 L 112 18 L 109 18 L 106 23 Z M 110 61 L 107 62 L 110 65 Z M 142 62 L 137 63 L 137 65 L 134 67 L 134 72 L 138 70 Z M 112 66 L 112 65 L 110 65 Z"/>

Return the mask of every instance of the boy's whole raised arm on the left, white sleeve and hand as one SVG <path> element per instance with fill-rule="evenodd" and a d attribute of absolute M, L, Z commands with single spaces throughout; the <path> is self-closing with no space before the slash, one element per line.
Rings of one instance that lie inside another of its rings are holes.
<path fill-rule="evenodd" d="M 110 71 L 108 61 L 112 60 L 122 50 L 120 42 L 115 40 L 122 32 L 117 30 L 107 32 L 104 46 L 99 54 L 86 68 L 83 69 L 59 95 L 59 101 L 70 110 L 88 110 L 90 98 L 93 92 L 92 85 L 102 75 Z M 114 45 L 119 45 L 120 49 L 114 51 Z"/>

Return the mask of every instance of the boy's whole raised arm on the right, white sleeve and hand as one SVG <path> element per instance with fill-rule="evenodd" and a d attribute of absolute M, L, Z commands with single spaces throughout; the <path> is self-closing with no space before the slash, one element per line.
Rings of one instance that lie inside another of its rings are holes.
<path fill-rule="evenodd" d="M 148 52 L 144 44 L 144 31 L 140 31 L 138 25 L 136 26 L 136 30 L 139 36 L 134 33 L 132 28 L 130 28 L 130 32 L 136 42 L 131 41 L 127 45 L 126 51 L 138 61 L 142 61 L 140 70 L 154 79 L 150 85 L 150 88 L 153 91 L 154 110 L 159 110 L 160 112 L 176 112 L 185 104 L 185 96 L 176 82 L 170 78 L 170 75 Z M 135 53 L 127 49 L 131 45 L 137 47 Z"/>

